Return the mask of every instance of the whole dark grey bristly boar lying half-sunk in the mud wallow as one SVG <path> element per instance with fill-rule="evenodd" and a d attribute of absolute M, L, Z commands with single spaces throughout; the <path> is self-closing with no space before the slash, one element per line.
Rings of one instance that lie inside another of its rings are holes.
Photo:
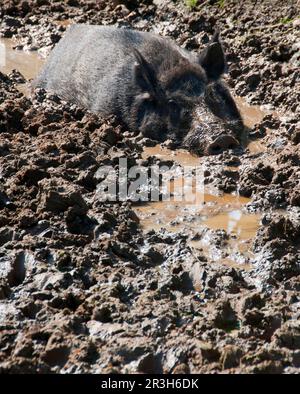
<path fill-rule="evenodd" d="M 217 33 L 197 54 L 152 33 L 72 25 L 34 86 L 94 113 L 116 115 L 146 137 L 217 154 L 238 147 L 244 130 L 221 79 L 225 69 Z"/>

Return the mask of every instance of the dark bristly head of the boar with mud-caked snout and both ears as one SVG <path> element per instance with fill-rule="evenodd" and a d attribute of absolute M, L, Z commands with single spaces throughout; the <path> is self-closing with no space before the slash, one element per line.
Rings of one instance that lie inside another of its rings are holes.
<path fill-rule="evenodd" d="M 166 54 L 166 57 L 170 54 Z M 197 154 L 218 154 L 240 145 L 244 127 L 221 76 L 225 55 L 218 34 L 193 61 L 181 54 L 153 66 L 135 50 L 131 126 L 158 141 L 172 138 Z"/>

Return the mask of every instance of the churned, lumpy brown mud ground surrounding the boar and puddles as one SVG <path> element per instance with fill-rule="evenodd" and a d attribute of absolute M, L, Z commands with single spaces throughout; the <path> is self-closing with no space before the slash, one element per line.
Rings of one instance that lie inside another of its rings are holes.
<path fill-rule="evenodd" d="M 153 141 L 0 73 L 1 373 L 299 372 L 300 4 L 204 3 L 1 2 L 2 37 L 42 55 L 70 22 L 195 51 L 217 26 L 232 91 L 267 111 L 250 130 L 261 149 L 203 159 L 206 184 L 259 215 L 239 266 L 224 229 L 145 228 L 131 203 L 94 198 L 99 166 L 147 164 Z M 203 237 L 221 258 L 193 247 Z"/>

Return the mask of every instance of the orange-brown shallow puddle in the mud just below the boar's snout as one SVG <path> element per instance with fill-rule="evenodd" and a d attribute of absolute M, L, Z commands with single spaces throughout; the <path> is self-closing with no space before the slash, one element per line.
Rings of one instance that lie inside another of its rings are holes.
<path fill-rule="evenodd" d="M 149 156 L 161 160 L 172 159 L 182 166 L 196 167 L 203 162 L 202 158 L 187 151 L 171 151 L 159 145 L 144 149 L 143 157 L 146 159 Z M 170 183 L 170 189 L 174 192 L 177 186 L 175 178 Z M 193 188 L 193 192 L 196 194 L 196 204 L 171 199 L 135 207 L 142 228 L 145 231 L 166 229 L 186 234 L 189 245 L 196 253 L 204 254 L 212 261 L 249 268 L 253 257 L 252 240 L 260 223 L 259 214 L 250 214 L 245 209 L 251 200 L 233 194 L 217 195 L 207 187 L 197 191 Z M 221 247 L 216 246 L 215 236 L 220 238 Z"/>

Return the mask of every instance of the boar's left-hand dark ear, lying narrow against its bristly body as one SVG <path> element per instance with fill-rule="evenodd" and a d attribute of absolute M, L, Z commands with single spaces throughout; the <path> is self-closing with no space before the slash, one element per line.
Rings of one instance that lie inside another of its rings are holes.
<path fill-rule="evenodd" d="M 136 57 L 134 63 L 135 81 L 142 90 L 155 93 L 156 77 L 154 71 L 137 49 L 134 48 L 133 51 Z"/>

